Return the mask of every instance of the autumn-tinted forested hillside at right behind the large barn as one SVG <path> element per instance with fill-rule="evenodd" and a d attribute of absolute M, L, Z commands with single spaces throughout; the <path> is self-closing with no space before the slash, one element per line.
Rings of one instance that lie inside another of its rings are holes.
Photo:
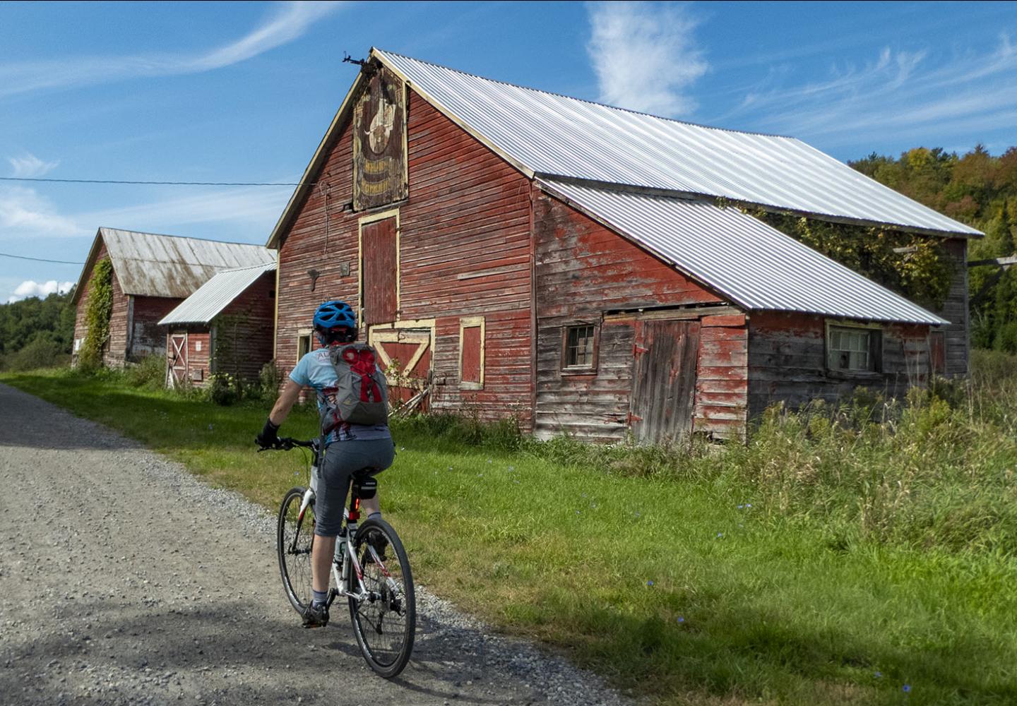
<path fill-rule="evenodd" d="M 993 157 L 981 145 L 958 156 L 916 148 L 897 159 L 870 155 L 849 162 L 862 174 L 985 233 L 972 240 L 969 260 L 1017 254 L 1017 148 Z M 971 344 L 1017 353 L 1017 267 L 970 271 Z"/>

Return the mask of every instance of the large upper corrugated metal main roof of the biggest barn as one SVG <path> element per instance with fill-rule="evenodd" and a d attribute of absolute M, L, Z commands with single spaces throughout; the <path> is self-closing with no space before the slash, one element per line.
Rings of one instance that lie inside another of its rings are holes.
<path fill-rule="evenodd" d="M 853 222 L 980 235 L 793 137 L 724 130 L 371 50 L 531 173 L 721 196 Z"/>

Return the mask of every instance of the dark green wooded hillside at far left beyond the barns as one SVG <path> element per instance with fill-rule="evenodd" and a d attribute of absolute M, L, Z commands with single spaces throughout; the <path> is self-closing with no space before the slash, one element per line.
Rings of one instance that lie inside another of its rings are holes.
<path fill-rule="evenodd" d="M 0 304 L 0 369 L 52 365 L 70 353 L 74 338 L 71 296 L 68 292 Z"/>

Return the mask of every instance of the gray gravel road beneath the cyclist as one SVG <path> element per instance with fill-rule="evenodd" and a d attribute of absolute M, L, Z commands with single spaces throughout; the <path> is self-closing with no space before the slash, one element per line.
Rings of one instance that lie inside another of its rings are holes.
<path fill-rule="evenodd" d="M 300 628 L 270 513 L 2 385 L 0 537 L 5 705 L 627 703 L 419 589 L 413 659 L 375 676 L 345 610 Z"/>

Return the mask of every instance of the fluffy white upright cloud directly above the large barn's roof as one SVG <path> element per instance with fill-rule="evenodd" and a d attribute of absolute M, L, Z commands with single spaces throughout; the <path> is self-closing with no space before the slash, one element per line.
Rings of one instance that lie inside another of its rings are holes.
<path fill-rule="evenodd" d="M 612 106 L 665 116 L 697 106 L 687 91 L 709 64 L 696 44 L 697 21 L 682 6 L 645 2 L 589 5 L 587 52 Z"/>

